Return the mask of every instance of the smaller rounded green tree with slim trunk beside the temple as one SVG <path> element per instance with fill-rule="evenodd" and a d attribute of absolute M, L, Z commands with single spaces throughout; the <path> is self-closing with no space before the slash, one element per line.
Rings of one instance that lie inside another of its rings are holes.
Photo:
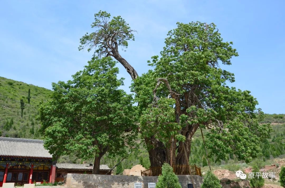
<path fill-rule="evenodd" d="M 54 92 L 39 108 L 46 149 L 54 158 L 94 158 L 93 174 L 106 152 L 124 156 L 135 145 L 133 99 L 118 89 L 123 79 L 115 64 L 111 57 L 93 58 L 73 80 L 52 83 Z"/>

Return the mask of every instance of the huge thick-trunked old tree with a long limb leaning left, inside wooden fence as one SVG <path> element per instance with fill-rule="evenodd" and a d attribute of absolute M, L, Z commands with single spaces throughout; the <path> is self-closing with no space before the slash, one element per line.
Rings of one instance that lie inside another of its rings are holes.
<path fill-rule="evenodd" d="M 152 57 L 153 70 L 138 76 L 119 54 L 134 40 L 133 31 L 120 16 L 95 14 L 95 28 L 84 35 L 79 49 L 95 49 L 94 56 L 118 60 L 133 79 L 137 121 L 146 142 L 151 166 L 186 164 L 195 131 L 209 128 L 207 147 L 225 158 L 233 153 L 249 162 L 258 154 L 258 141 L 270 126 L 258 124 L 262 116 L 249 91 L 227 86 L 234 75 L 220 68 L 238 56 L 232 42 L 224 42 L 214 24 L 177 23 L 168 33 L 160 57 Z M 187 158 L 183 154 L 185 144 Z"/>

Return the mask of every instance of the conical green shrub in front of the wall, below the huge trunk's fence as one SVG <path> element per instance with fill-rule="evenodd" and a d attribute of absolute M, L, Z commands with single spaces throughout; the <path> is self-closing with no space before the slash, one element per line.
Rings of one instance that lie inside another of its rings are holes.
<path fill-rule="evenodd" d="M 156 188 L 181 188 L 178 177 L 173 172 L 173 168 L 167 163 L 162 165 L 162 175 L 158 176 Z"/>

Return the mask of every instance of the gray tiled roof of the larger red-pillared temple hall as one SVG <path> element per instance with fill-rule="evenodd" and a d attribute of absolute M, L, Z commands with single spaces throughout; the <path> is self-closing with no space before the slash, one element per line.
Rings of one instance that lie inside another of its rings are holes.
<path fill-rule="evenodd" d="M 42 140 L 0 137 L 0 156 L 52 158 Z"/>

